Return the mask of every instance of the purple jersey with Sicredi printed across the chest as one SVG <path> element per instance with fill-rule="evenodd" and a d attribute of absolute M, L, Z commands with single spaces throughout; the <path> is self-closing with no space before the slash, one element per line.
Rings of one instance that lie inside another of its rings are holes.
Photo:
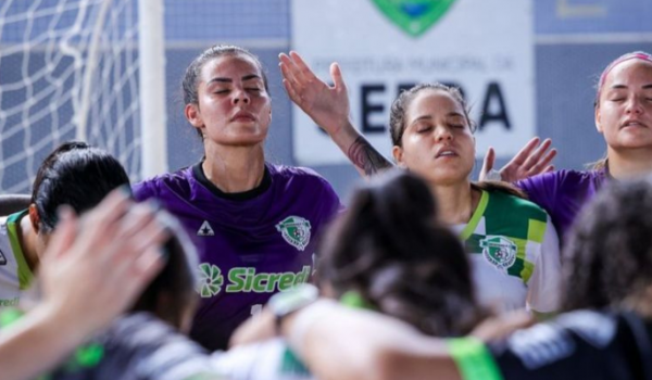
<path fill-rule="evenodd" d="M 202 302 L 190 335 L 209 350 L 225 349 L 272 294 L 310 279 L 317 237 L 340 207 L 314 172 L 268 163 L 261 185 L 242 193 L 222 192 L 197 164 L 139 182 L 134 194 L 158 199 L 196 242 Z"/>

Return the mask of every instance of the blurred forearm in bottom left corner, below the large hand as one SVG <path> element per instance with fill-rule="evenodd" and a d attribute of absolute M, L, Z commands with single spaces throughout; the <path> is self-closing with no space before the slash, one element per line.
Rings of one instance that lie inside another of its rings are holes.
<path fill-rule="evenodd" d="M 86 337 L 80 330 L 71 318 L 58 317 L 49 306 L 37 306 L 0 330 L 2 379 L 33 379 L 53 368 L 84 342 Z"/>

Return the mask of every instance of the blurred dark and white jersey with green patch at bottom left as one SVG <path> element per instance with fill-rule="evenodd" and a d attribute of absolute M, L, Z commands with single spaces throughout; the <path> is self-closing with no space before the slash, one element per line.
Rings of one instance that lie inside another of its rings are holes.
<path fill-rule="evenodd" d="M 0 321 L 11 322 L 18 316 L 15 311 L 4 311 L 0 313 Z M 201 346 L 158 318 L 147 313 L 137 313 L 118 318 L 106 331 L 75 350 L 57 369 L 39 379 L 222 378 L 215 373 Z"/>

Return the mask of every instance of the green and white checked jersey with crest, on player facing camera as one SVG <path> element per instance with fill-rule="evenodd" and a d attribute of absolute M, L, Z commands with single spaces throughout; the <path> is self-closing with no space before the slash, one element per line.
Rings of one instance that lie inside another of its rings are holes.
<path fill-rule="evenodd" d="M 542 208 L 506 192 L 482 191 L 468 224 L 457 227 L 482 305 L 498 312 L 559 309 L 560 244 Z"/>

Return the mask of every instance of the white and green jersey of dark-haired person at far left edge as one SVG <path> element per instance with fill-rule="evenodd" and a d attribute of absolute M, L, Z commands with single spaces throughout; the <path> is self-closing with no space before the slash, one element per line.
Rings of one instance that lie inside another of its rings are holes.
<path fill-rule="evenodd" d="M 26 213 L 0 218 L 0 308 L 17 306 L 33 278 L 17 235 L 17 224 Z"/>

